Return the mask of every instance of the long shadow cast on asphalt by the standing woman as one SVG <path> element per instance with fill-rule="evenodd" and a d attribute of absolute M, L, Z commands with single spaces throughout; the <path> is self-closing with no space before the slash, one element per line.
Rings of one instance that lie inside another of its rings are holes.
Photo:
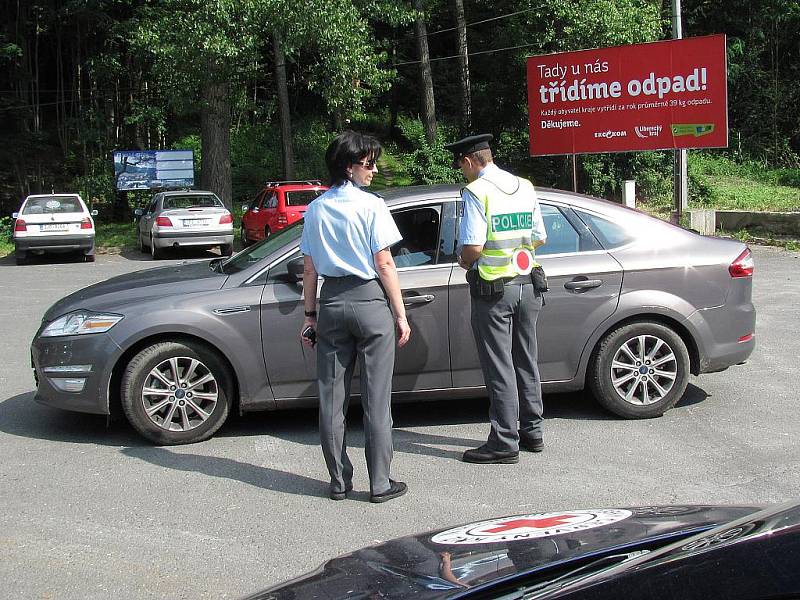
<path fill-rule="evenodd" d="M 233 479 L 265 490 L 300 496 L 328 496 L 327 481 L 269 467 L 259 467 L 230 458 L 178 453 L 167 448 L 154 447 L 123 448 L 121 452 L 125 456 L 138 458 L 159 467 Z"/>

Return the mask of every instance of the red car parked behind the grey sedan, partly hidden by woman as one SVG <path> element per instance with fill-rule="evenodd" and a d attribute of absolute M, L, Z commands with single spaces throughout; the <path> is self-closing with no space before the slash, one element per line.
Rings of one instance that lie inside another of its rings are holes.
<path fill-rule="evenodd" d="M 242 246 L 268 238 L 303 218 L 314 198 L 327 190 L 319 181 L 270 181 L 242 206 Z"/>

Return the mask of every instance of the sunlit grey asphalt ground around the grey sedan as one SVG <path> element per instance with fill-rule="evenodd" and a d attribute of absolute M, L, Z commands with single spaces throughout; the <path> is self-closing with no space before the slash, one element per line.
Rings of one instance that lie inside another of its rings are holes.
<path fill-rule="evenodd" d="M 358 411 L 356 493 L 332 502 L 312 410 L 154 447 L 125 423 L 34 403 L 29 345 L 47 307 L 152 262 L 0 259 L 0 597 L 238 598 L 366 545 L 494 516 L 798 498 L 800 254 L 753 252 L 747 364 L 692 377 L 653 420 L 620 420 L 588 394 L 546 396 L 546 449 L 517 465 L 458 460 L 486 438 L 485 400 L 396 407 L 392 468 L 410 491 L 386 504 L 368 501 Z"/>

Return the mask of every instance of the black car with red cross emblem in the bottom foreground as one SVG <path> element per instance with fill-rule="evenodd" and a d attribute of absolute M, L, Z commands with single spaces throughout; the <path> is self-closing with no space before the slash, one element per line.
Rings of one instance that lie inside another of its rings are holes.
<path fill-rule="evenodd" d="M 567 510 L 390 540 L 249 600 L 777 600 L 798 566 L 796 503 Z"/>

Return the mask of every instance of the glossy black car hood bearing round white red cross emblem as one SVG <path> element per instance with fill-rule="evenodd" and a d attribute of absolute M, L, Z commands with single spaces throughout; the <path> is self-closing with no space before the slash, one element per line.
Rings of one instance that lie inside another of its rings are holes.
<path fill-rule="evenodd" d="M 758 510 L 651 506 L 492 519 L 364 548 L 250 598 L 449 598 L 519 573 L 666 545 Z"/>

